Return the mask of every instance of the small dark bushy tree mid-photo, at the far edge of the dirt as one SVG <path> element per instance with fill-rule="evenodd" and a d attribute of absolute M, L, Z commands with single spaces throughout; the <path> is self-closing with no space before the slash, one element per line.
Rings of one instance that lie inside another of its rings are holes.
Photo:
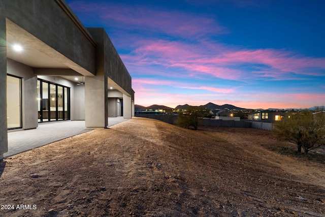
<path fill-rule="evenodd" d="M 189 106 L 178 113 L 177 122 L 180 127 L 198 130 L 200 117 L 204 116 L 204 109 L 198 106 Z"/>

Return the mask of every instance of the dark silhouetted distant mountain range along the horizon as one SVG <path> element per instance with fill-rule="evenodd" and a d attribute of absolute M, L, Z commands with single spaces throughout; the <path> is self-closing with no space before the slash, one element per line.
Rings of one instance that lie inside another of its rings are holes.
<path fill-rule="evenodd" d="M 163 106 L 163 105 L 151 105 L 151 106 L 148 106 L 148 107 L 141 106 L 141 105 L 135 105 L 134 107 L 135 107 L 136 111 L 145 111 L 145 110 L 150 110 L 150 109 L 152 109 L 152 110 L 156 110 L 156 109 L 165 109 L 165 110 L 177 110 L 177 109 L 179 109 L 179 110 L 182 110 L 182 109 L 188 108 L 189 105 L 188 104 L 178 105 L 175 108 L 171 108 L 171 107 Z M 230 104 L 224 104 L 222 106 L 219 106 L 219 105 L 216 105 L 214 103 L 208 103 L 208 104 L 202 105 L 200 107 L 207 108 L 207 109 L 210 109 L 210 110 L 214 110 L 214 109 L 243 110 L 243 109 L 245 109 L 245 108 L 239 108 L 237 106 L 230 105 Z"/>

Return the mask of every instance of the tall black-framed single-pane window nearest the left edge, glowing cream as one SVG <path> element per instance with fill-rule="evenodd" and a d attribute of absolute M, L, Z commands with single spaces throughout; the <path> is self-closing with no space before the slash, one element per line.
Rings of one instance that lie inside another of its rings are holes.
<path fill-rule="evenodd" d="M 21 78 L 7 75 L 7 129 L 22 128 Z"/>

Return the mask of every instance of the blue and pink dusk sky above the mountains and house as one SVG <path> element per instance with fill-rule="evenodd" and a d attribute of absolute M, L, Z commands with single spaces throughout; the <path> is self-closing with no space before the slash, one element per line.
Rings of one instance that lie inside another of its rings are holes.
<path fill-rule="evenodd" d="M 325 105 L 325 1 L 77 1 L 132 76 L 135 104 Z"/>

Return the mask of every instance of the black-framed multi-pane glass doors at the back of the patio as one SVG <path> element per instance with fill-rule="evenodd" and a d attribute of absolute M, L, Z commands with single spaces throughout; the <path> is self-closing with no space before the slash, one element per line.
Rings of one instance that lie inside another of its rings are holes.
<path fill-rule="evenodd" d="M 39 122 L 70 119 L 70 88 L 42 79 L 37 81 Z"/>

